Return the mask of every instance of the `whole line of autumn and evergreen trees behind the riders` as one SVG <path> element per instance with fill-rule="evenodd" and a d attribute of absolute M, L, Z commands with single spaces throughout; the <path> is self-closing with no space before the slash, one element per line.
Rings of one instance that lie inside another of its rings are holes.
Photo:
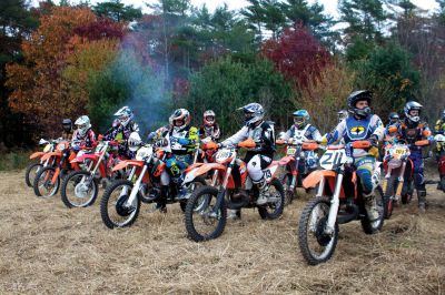
<path fill-rule="evenodd" d="M 433 122 L 445 104 L 445 1 L 436 2 L 423 11 L 408 0 L 340 0 L 334 18 L 305 0 L 214 11 L 157 0 L 149 13 L 120 0 L 1 1 L 0 150 L 57 136 L 62 118 L 83 113 L 103 132 L 122 104 L 145 132 L 182 106 L 196 124 L 214 109 L 228 134 L 251 101 L 278 130 L 304 108 L 328 131 L 358 88 L 374 91 L 383 119 L 417 100 Z"/>

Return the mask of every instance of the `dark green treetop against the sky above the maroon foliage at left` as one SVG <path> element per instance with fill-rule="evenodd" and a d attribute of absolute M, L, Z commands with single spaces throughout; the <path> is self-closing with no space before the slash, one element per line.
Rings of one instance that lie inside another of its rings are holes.
<path fill-rule="evenodd" d="M 125 6 L 121 0 L 97 3 L 92 7 L 92 11 L 98 17 L 107 17 L 117 22 L 130 22 L 142 17 L 140 8 Z"/>

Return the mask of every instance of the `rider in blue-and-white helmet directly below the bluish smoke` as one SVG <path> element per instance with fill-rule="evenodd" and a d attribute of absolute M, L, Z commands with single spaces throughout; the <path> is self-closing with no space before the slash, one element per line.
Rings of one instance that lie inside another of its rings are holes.
<path fill-rule="evenodd" d="M 120 108 L 115 116 L 112 126 L 106 132 L 103 139 L 106 141 L 119 142 L 119 154 L 126 159 L 132 159 L 135 152 L 128 149 L 128 139 L 132 132 L 139 133 L 139 125 L 134 121 L 135 114 L 129 106 Z"/>

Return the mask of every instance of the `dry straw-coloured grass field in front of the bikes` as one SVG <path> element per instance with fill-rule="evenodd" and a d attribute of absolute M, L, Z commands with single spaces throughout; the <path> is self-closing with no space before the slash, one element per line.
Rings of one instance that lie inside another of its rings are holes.
<path fill-rule="evenodd" d="M 415 203 L 398 207 L 373 236 L 359 223 L 340 226 L 333 260 L 313 267 L 296 242 L 304 201 L 276 222 L 246 210 L 220 238 L 197 244 L 177 205 L 166 215 L 146 205 L 132 227 L 110 231 L 98 204 L 68 210 L 37 199 L 21 172 L 0 179 L 1 294 L 444 294 L 445 195 L 434 186 L 425 215 Z"/>

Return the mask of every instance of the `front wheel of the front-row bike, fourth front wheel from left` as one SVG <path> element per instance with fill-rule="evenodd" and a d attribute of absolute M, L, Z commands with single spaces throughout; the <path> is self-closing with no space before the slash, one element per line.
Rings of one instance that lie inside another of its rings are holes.
<path fill-rule="evenodd" d="M 130 226 L 137 220 L 140 197 L 136 197 L 132 204 L 128 204 L 131 190 L 132 182 L 119 180 L 105 192 L 100 201 L 100 216 L 108 228 Z"/>

